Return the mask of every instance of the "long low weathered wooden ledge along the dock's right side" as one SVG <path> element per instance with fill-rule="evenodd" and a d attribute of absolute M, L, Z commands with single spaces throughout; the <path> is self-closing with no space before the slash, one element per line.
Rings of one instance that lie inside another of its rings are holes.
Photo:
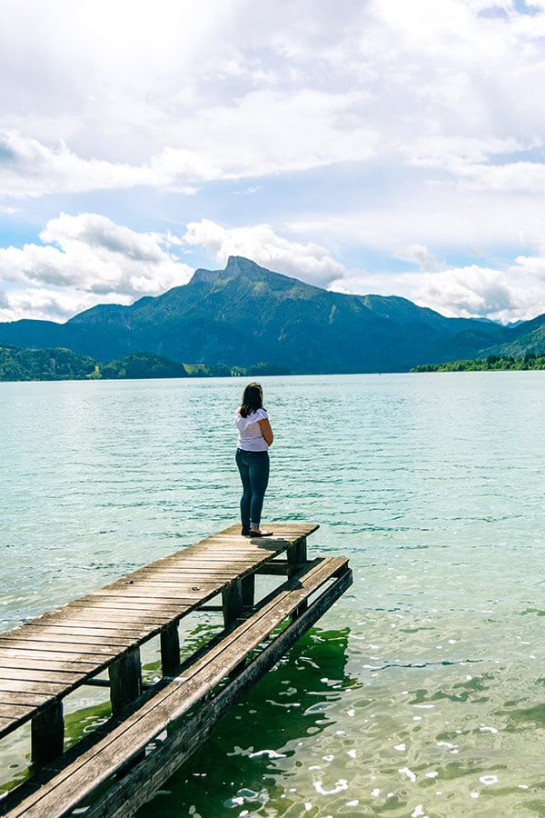
<path fill-rule="evenodd" d="M 307 568 L 269 594 L 253 614 L 233 623 L 230 630 L 213 640 L 184 663 L 170 683 L 135 708 L 122 723 L 94 745 L 75 756 L 69 751 L 55 763 L 46 779 L 23 785 L 0 802 L 0 814 L 10 818 L 60 818 L 121 770 L 140 757 L 134 770 L 115 783 L 85 813 L 89 818 L 121 818 L 157 789 L 183 761 L 210 735 L 216 723 L 236 703 L 237 698 L 256 682 L 286 650 L 316 622 L 322 613 L 352 584 L 348 561 L 339 557 L 316 559 Z M 302 607 L 312 594 L 307 610 L 278 634 L 251 663 L 244 666 L 250 653 L 271 635 L 274 628 Z M 210 699 L 210 693 L 230 673 L 236 677 Z M 203 701 L 205 700 L 205 701 Z M 180 718 L 195 703 L 201 706 L 153 753 L 142 758 L 146 745 Z M 75 748 L 74 748 L 75 749 Z M 44 771 L 45 772 L 45 771 Z M 41 784 L 41 786 L 40 786 Z"/>

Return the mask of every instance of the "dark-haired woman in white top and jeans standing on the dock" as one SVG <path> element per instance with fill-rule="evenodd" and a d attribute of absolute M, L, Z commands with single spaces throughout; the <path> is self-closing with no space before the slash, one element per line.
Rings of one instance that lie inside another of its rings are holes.
<path fill-rule="evenodd" d="M 241 520 L 243 537 L 270 537 L 260 528 L 263 497 L 269 483 L 269 446 L 273 435 L 269 415 L 263 409 L 261 384 L 248 384 L 243 404 L 234 415 L 239 430 L 236 464 L 243 481 Z"/>

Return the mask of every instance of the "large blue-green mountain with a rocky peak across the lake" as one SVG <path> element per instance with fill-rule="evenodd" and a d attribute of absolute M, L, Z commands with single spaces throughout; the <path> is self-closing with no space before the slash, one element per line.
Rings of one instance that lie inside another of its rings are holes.
<path fill-rule="evenodd" d="M 224 270 L 196 270 L 188 284 L 130 306 L 99 304 L 65 324 L 0 324 L 0 342 L 63 346 L 101 362 L 145 351 L 189 364 L 268 361 L 294 373 L 404 372 L 482 357 L 542 324 L 545 333 L 545 315 L 514 328 L 445 318 L 404 298 L 332 293 L 232 256 Z"/>

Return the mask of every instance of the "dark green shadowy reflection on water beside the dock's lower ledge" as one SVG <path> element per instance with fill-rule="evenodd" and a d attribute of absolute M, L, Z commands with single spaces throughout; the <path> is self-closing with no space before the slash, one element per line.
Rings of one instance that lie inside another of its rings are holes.
<path fill-rule="evenodd" d="M 299 803 L 286 782 L 302 767 L 303 740 L 312 737 L 319 746 L 324 731 L 341 738 L 335 706 L 343 692 L 358 686 L 345 670 L 348 635 L 348 629 L 318 628 L 306 634 L 138 815 L 219 818 L 244 809 L 270 810 L 277 801 L 282 810 Z"/>

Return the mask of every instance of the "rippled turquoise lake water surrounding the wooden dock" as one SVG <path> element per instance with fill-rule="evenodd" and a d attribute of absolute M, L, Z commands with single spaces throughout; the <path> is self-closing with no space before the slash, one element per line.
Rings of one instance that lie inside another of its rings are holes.
<path fill-rule="evenodd" d="M 0 384 L 0 627 L 233 523 L 242 387 Z M 545 815 L 545 373 L 263 387 L 263 522 L 354 585 L 139 814 Z"/>

